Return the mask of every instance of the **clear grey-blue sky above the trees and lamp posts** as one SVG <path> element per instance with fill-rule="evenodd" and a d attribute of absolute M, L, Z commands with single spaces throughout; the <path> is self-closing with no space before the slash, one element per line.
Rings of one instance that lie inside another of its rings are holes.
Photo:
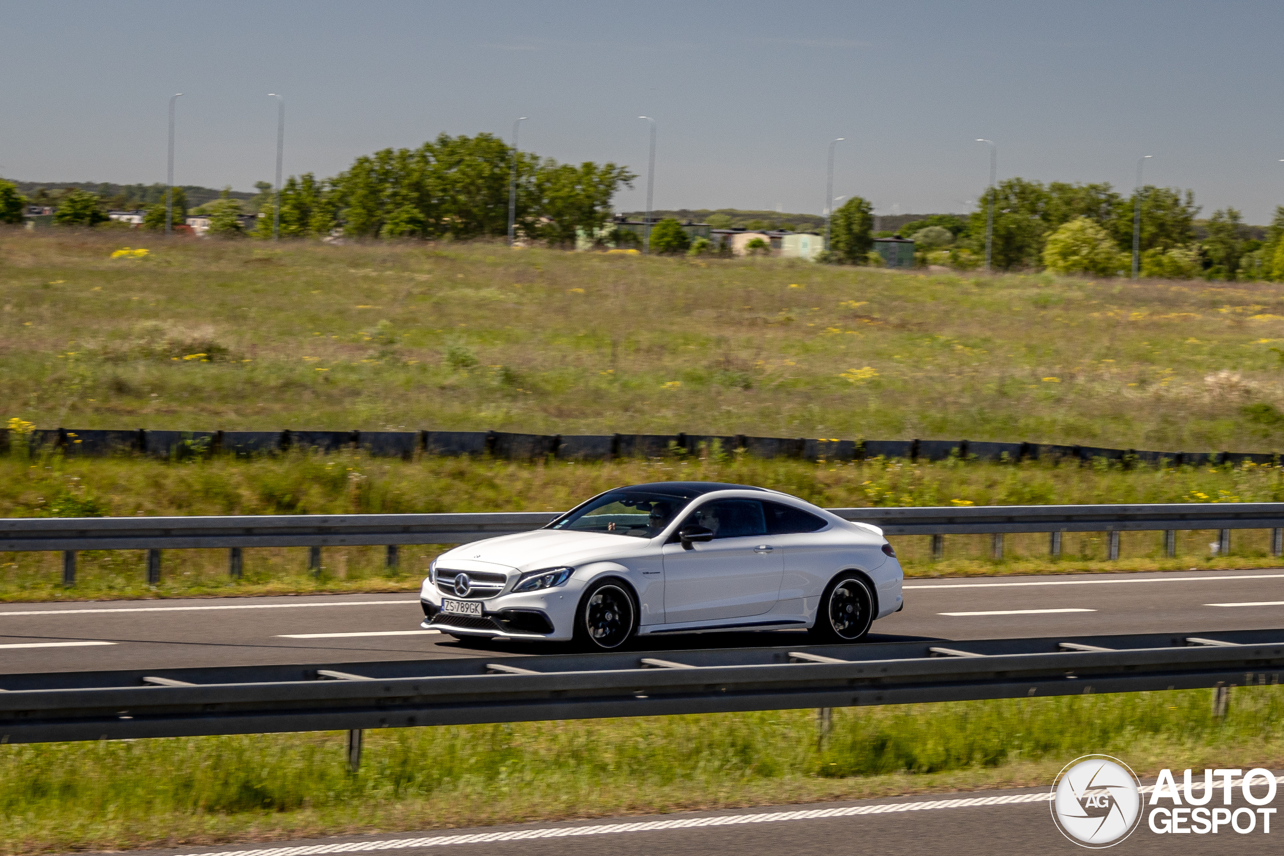
<path fill-rule="evenodd" d="M 1284 4 L 1095 3 L 65 3 L 0 0 L 0 175 L 272 178 L 446 131 L 642 173 L 659 121 L 656 208 L 967 210 L 989 171 L 1190 187 L 1208 216 L 1284 203 Z"/>

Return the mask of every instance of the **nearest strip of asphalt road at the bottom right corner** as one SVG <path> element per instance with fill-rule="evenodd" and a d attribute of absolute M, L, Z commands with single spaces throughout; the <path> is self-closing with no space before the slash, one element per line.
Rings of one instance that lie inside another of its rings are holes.
<path fill-rule="evenodd" d="M 1049 783 L 1050 785 L 1050 783 Z M 1234 789 L 1231 811 L 1249 807 Z M 386 835 L 315 838 L 271 844 L 193 847 L 152 851 L 155 856 L 313 856 L 326 852 L 389 852 L 416 856 L 443 847 L 487 856 L 690 856 L 691 853 L 871 853 L 877 856 L 993 856 L 994 853 L 1082 853 L 1052 821 L 1048 788 L 919 794 L 890 800 L 829 802 L 728 811 L 681 812 L 650 817 L 612 817 L 543 824 L 499 825 L 484 829 L 403 832 Z M 1013 798 L 1009 802 L 998 800 Z M 1147 798 L 1143 794 L 1143 798 Z M 985 801 L 989 805 L 951 805 Z M 944 805 L 942 805 L 944 803 Z M 1221 805 L 1221 791 L 1213 800 Z M 1276 796 L 1266 807 L 1284 803 Z M 1161 805 L 1171 805 L 1165 801 Z M 838 816 L 835 810 L 847 810 Z M 856 811 L 851 811 L 851 810 Z M 1284 820 L 1271 817 L 1263 833 L 1261 816 L 1249 833 L 1222 826 L 1216 834 L 1158 834 L 1149 829 L 1149 805 L 1141 825 L 1111 852 L 1181 856 L 1184 853 L 1278 853 Z M 831 816 L 781 816 L 782 812 L 826 812 Z M 704 823 L 700 823 L 704 821 Z M 638 829 L 638 824 L 652 826 Z M 655 829 L 664 824 L 668 828 Z M 698 824 L 698 825 L 697 825 Z M 1248 825 L 1240 817 L 1240 828 Z M 539 833 L 533 834 L 533 833 Z M 505 841 L 503 838 L 507 838 Z M 250 850 L 254 848 L 254 850 Z M 139 856 L 143 856 L 140 852 Z"/>

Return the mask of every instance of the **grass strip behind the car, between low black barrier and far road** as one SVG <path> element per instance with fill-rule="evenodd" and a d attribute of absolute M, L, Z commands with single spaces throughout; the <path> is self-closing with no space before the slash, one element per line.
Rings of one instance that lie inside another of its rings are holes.
<path fill-rule="evenodd" d="M 139 458 L 0 457 L 0 516 L 315 515 L 561 511 L 623 484 L 693 479 L 774 488 L 827 507 L 1003 506 L 1046 503 L 1279 502 L 1284 471 L 1242 467 L 1080 467 L 944 461 L 863 463 L 761 461 L 743 456 L 609 463 L 435 458 L 419 461 L 291 453 L 189 462 Z M 927 536 L 894 538 L 912 576 L 1271 567 L 1266 530 L 1236 531 L 1228 557 L 1210 558 L 1212 533 L 1179 534 L 1177 558 L 1158 533 L 1124 533 L 1120 560 L 1106 561 L 1099 533 L 1067 533 L 1062 557 L 1046 535 L 1008 535 L 1004 560 L 989 536 L 953 535 L 946 560 L 931 560 Z M 413 590 L 442 545 L 407 547 L 399 569 L 377 547 L 327 548 L 320 576 L 303 548 L 248 549 L 245 576 L 227 576 L 226 551 L 168 551 L 159 586 L 145 585 L 141 551 L 80 554 L 77 584 L 60 583 L 54 552 L 0 554 L 0 601 L 208 597 L 309 592 Z"/>

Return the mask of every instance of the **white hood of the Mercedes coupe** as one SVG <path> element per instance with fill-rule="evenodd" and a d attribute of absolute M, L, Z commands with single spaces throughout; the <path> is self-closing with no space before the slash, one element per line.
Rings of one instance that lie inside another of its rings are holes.
<path fill-rule="evenodd" d="M 485 562 L 517 571 L 537 571 L 559 565 L 583 565 L 625 556 L 636 553 L 650 543 L 650 539 L 629 535 L 537 529 L 533 533 L 499 535 L 456 547 L 442 553 L 438 562 L 446 566 L 452 561 Z"/>

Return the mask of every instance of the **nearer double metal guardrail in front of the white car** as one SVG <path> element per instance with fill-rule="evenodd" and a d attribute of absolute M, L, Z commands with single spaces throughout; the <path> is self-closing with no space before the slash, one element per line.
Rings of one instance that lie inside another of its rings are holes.
<path fill-rule="evenodd" d="M 946 647 L 948 646 L 948 647 Z M 0 675 L 0 743 L 1278 684 L 1284 630 Z"/>

